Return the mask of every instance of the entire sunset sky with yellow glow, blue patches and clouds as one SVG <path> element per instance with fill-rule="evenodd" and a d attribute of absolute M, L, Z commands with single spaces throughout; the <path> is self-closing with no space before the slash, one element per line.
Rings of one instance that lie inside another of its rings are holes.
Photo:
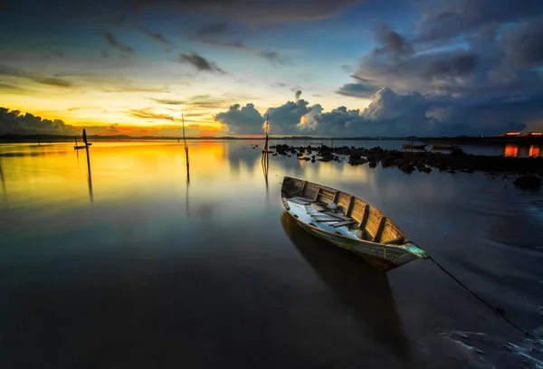
<path fill-rule="evenodd" d="M 7 0 L 0 34 L 0 134 L 543 129 L 541 0 Z"/>

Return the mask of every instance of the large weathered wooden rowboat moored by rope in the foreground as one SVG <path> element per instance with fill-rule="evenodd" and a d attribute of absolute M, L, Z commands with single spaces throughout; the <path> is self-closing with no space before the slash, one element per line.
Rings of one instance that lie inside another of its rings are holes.
<path fill-rule="evenodd" d="M 378 270 L 428 257 L 385 214 L 351 194 L 286 176 L 281 202 L 304 230 L 353 251 Z"/>

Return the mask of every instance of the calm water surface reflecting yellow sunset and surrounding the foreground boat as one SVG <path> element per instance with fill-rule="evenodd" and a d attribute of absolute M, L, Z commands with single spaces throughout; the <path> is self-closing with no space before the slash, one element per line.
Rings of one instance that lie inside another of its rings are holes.
<path fill-rule="evenodd" d="M 90 178 L 71 144 L 0 146 L 0 367 L 537 367 L 431 261 L 377 273 L 279 191 L 291 175 L 366 199 L 538 336 L 543 194 L 281 156 L 266 176 L 255 143 L 190 142 L 188 176 L 181 144 L 99 142 Z"/>

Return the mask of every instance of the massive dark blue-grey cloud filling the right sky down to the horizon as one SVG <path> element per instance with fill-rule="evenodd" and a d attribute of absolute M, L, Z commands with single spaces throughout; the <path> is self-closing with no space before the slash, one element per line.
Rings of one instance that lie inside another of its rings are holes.
<path fill-rule="evenodd" d="M 355 83 L 337 91 L 372 99 L 367 109 L 319 114 L 316 132 L 499 134 L 542 121 L 543 2 L 425 5 L 418 33 L 376 26 L 376 47 L 359 61 Z"/>

